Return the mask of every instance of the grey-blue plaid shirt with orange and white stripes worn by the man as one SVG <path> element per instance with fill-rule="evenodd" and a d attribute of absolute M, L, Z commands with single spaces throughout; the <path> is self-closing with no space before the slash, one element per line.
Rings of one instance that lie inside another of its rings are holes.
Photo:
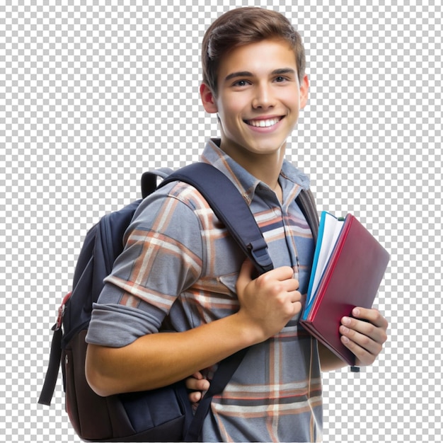
<path fill-rule="evenodd" d="M 306 294 L 313 239 L 295 203 L 309 179 L 284 161 L 282 205 L 275 193 L 210 140 L 202 161 L 231 178 L 251 207 L 275 267 L 292 266 Z M 86 340 L 120 347 L 162 327 L 188 330 L 238 311 L 244 256 L 195 188 L 170 183 L 142 202 L 125 251 L 105 280 Z M 210 372 L 215 369 L 209 369 Z M 299 316 L 246 353 L 213 398 L 203 441 L 311 442 L 321 439 L 321 371 L 316 340 Z"/>

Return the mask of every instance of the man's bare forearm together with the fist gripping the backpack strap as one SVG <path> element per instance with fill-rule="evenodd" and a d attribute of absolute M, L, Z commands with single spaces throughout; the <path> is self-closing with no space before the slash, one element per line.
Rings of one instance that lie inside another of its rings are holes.
<path fill-rule="evenodd" d="M 144 335 L 120 348 L 89 345 L 86 377 L 99 395 L 167 386 L 278 333 L 301 309 L 292 267 L 252 280 L 246 260 L 236 289 L 240 309 L 197 328 Z"/>

